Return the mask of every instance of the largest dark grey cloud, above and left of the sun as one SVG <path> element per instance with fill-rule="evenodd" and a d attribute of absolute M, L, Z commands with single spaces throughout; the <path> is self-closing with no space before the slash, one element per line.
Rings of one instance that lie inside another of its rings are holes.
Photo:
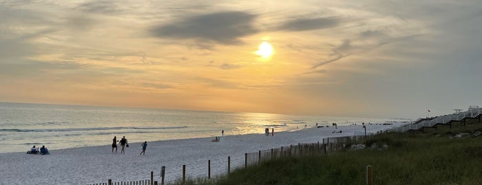
<path fill-rule="evenodd" d="M 246 12 L 217 12 L 188 17 L 181 21 L 153 28 L 154 37 L 201 39 L 223 44 L 240 43 L 240 38 L 257 33 L 252 22 L 254 14 Z"/>

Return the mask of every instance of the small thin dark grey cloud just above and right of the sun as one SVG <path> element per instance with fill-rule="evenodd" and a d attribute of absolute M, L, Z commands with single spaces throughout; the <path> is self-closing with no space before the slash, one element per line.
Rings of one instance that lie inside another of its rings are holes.
<path fill-rule="evenodd" d="M 305 30 L 320 30 L 326 28 L 334 28 L 341 23 L 342 19 L 339 17 L 321 17 L 317 19 L 294 19 L 279 26 L 277 30 L 288 31 L 305 31 Z"/>

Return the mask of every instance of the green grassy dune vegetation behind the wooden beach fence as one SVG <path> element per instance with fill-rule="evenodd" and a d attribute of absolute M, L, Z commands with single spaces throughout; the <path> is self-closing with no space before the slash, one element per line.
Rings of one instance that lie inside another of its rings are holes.
<path fill-rule="evenodd" d="M 367 165 L 373 166 L 373 184 L 482 184 L 481 133 L 478 120 L 424 133 L 384 133 L 365 141 L 365 149 L 277 159 L 188 184 L 365 184 Z"/>

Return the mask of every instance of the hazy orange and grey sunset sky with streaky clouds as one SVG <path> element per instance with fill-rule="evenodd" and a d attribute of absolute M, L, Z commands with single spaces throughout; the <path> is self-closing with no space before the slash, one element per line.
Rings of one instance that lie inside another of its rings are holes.
<path fill-rule="evenodd" d="M 415 119 L 482 106 L 481 43 L 480 0 L 0 0 L 0 101 Z"/>

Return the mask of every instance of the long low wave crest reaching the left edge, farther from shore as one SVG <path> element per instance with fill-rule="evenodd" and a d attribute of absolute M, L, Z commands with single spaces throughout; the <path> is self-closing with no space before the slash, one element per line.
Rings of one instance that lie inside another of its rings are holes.
<path fill-rule="evenodd" d="M 45 128 L 45 129 L 0 129 L 0 132 L 10 133 L 30 133 L 30 132 L 72 132 L 72 131 L 90 131 L 90 130 L 168 130 L 168 129 L 183 129 L 188 126 L 170 126 L 170 127 L 134 127 L 134 126 L 119 126 L 119 127 L 93 127 L 93 128 Z"/>

